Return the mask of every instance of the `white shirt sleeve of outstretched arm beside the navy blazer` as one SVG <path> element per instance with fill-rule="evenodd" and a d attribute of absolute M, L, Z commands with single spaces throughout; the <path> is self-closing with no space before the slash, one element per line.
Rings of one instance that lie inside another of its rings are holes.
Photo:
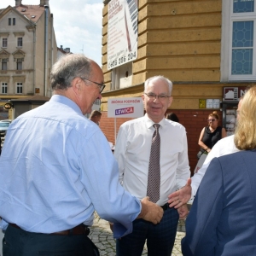
<path fill-rule="evenodd" d="M 211 160 L 214 157 L 219 157 L 225 154 L 232 154 L 237 151 L 239 151 L 239 149 L 236 148 L 236 145 L 234 143 L 234 135 L 231 135 L 229 137 L 224 137 L 213 146 L 210 153 L 207 154 L 207 159 L 204 161 L 203 166 L 201 166 L 199 171 L 195 173 L 195 175 L 192 177 L 192 183 L 191 183 L 192 195 L 189 203 L 192 203 L 192 201 L 194 200 L 197 189 L 201 183 L 201 179 L 204 177 L 205 173 L 207 172 L 207 168 L 210 165 Z"/>

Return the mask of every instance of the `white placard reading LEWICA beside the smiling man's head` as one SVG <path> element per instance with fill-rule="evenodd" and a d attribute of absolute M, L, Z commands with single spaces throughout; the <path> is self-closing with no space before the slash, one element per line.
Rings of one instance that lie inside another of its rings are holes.
<path fill-rule="evenodd" d="M 141 97 L 108 99 L 108 117 L 138 118 L 143 115 L 144 108 Z"/>

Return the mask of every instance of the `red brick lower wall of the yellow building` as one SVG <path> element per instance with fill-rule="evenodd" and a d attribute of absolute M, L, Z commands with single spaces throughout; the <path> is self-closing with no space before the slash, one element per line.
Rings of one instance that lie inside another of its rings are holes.
<path fill-rule="evenodd" d="M 207 126 L 207 118 L 212 110 L 177 110 L 172 111 L 168 109 L 168 112 L 174 112 L 177 114 L 179 122 L 186 128 L 188 145 L 189 145 L 189 166 L 191 175 L 193 175 L 195 166 L 197 164 L 196 154 L 200 147 L 198 145 L 198 139 L 203 127 Z M 222 113 L 218 112 L 219 121 L 218 125 L 222 125 Z M 130 119 L 116 119 L 116 131 L 119 131 L 120 125 Z M 102 112 L 102 119 L 100 127 L 108 138 L 108 141 L 114 144 L 114 119 L 108 118 L 107 112 Z"/>

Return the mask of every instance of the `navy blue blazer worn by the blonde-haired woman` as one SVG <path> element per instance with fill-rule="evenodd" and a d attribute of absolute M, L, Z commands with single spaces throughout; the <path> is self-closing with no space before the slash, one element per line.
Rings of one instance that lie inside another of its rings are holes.
<path fill-rule="evenodd" d="M 186 220 L 184 256 L 256 255 L 256 150 L 212 160 Z"/>

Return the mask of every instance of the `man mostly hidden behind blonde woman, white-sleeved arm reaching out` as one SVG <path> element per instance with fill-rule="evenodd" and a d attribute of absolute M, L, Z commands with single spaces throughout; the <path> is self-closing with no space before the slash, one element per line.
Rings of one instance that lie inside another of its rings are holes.
<path fill-rule="evenodd" d="M 239 108 L 241 108 L 242 97 L 238 103 L 237 113 L 239 113 Z M 202 178 L 207 172 L 207 168 L 211 163 L 211 160 L 215 157 L 219 157 L 225 154 L 232 154 L 239 151 L 236 148 L 234 143 L 234 135 L 229 137 L 224 137 L 216 143 L 209 154 L 207 154 L 207 159 L 204 161 L 203 166 L 199 169 L 197 173 L 191 178 L 189 178 L 188 183 L 182 189 L 177 190 L 176 192 L 169 195 L 169 203 L 171 207 L 180 207 L 182 204 L 185 204 L 189 201 L 191 204 L 194 201 L 195 194 Z"/>

